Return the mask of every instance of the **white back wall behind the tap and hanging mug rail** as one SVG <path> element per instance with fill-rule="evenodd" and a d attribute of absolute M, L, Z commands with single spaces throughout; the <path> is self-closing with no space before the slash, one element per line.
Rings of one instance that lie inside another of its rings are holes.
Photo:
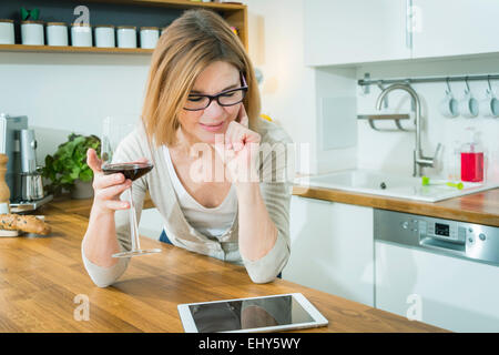
<path fill-rule="evenodd" d="M 391 78 L 418 78 L 440 75 L 467 75 L 497 73 L 498 58 L 488 59 L 454 59 L 425 62 L 403 62 L 370 64 L 357 69 L 357 78 L 363 78 L 369 72 L 373 79 Z M 492 81 L 492 89 L 499 93 L 499 82 Z M 487 81 L 469 81 L 471 92 L 476 99 L 483 99 Z M 460 143 L 468 141 L 466 128 L 473 126 L 481 132 L 481 142 L 487 149 L 490 180 L 499 181 L 499 119 L 487 119 L 481 114 L 476 119 L 458 116 L 445 118 L 439 112 L 439 103 L 445 97 L 446 83 L 420 83 L 414 84 L 422 108 L 424 135 L 422 150 L 428 156 L 435 153 L 438 143 L 444 149 L 439 158 L 437 169 L 427 172 L 441 178 L 448 178 L 449 159 L 455 141 Z M 465 83 L 451 82 L 450 88 L 456 99 L 464 97 Z M 357 109 L 359 113 L 375 112 L 376 99 L 380 90 L 370 87 L 370 93 L 364 94 L 357 89 Z M 388 97 L 389 108 L 398 112 L 410 111 L 409 95 L 404 92 L 394 91 Z M 390 124 L 394 126 L 394 124 Z M 358 166 L 365 169 L 385 170 L 394 173 L 413 173 L 413 150 L 415 146 L 414 132 L 377 132 L 369 128 L 366 121 L 358 124 Z"/>

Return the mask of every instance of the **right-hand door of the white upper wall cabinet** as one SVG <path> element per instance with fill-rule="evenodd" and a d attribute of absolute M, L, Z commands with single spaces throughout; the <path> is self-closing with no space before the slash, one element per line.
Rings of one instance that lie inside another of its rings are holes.
<path fill-rule="evenodd" d="M 413 0 L 413 57 L 499 51 L 499 1 Z"/>

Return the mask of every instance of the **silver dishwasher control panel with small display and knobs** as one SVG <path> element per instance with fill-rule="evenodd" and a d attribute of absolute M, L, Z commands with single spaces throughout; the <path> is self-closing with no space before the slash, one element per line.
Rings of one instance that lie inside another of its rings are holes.
<path fill-rule="evenodd" d="M 374 210 L 375 241 L 499 265 L 499 227 Z"/>

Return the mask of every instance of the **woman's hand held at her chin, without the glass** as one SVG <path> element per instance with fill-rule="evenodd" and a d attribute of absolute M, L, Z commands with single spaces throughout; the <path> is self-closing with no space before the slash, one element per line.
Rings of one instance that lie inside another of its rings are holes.
<path fill-rule="evenodd" d="M 228 124 L 223 141 L 215 139 L 215 150 L 221 155 L 226 178 L 233 183 L 257 182 L 256 158 L 261 136 L 248 129 L 248 118 L 241 104 L 237 118 Z"/>

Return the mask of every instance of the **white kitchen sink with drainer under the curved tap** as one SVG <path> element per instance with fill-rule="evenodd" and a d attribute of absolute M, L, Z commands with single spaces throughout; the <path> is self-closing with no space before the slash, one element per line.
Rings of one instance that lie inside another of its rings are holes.
<path fill-rule="evenodd" d="M 438 183 L 445 183 L 445 181 L 431 179 L 430 185 L 422 186 L 421 178 L 403 176 L 369 170 L 348 170 L 295 180 L 295 184 L 297 185 L 336 189 L 426 202 L 437 202 L 499 187 L 499 182 L 487 184 L 464 182 L 462 190 Z"/>

